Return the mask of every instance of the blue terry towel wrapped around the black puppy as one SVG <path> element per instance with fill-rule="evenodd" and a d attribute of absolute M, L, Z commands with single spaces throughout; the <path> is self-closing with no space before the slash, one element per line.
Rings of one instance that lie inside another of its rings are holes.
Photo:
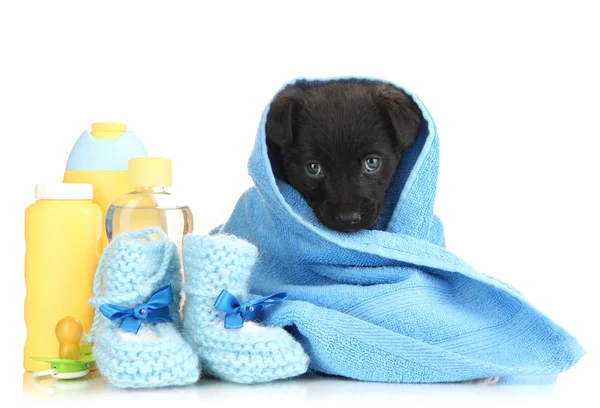
<path fill-rule="evenodd" d="M 403 158 L 376 228 L 349 234 L 323 226 L 273 170 L 265 142 L 268 107 L 263 113 L 248 164 L 255 187 L 213 232 L 258 247 L 253 294 L 284 291 L 292 299 L 266 309 L 264 323 L 289 326 L 312 369 L 359 380 L 501 376 L 531 382 L 568 369 L 585 354 L 575 338 L 516 289 L 445 248 L 433 212 L 438 135 L 423 103 L 412 97 L 425 119 L 417 141 Z"/>

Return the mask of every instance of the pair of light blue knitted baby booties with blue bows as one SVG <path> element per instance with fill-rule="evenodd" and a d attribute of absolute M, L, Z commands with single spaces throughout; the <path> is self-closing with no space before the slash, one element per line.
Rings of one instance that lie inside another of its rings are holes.
<path fill-rule="evenodd" d="M 243 321 L 285 297 L 248 300 L 256 258 L 237 237 L 189 234 L 182 285 L 176 245 L 161 230 L 119 234 L 90 299 L 98 309 L 89 340 L 103 376 L 119 388 L 153 388 L 192 384 L 202 372 L 244 384 L 306 372 L 308 356 L 288 332 Z"/>

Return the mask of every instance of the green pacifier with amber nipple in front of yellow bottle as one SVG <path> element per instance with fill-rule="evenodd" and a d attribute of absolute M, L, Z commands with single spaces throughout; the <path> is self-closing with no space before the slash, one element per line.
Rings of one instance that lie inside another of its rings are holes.
<path fill-rule="evenodd" d="M 51 376 L 59 380 L 80 378 L 90 372 L 90 363 L 94 361 L 92 346 L 81 347 L 83 325 L 71 316 L 61 319 L 56 324 L 56 339 L 58 340 L 58 358 L 31 357 L 33 360 L 45 361 L 51 364 L 51 369 L 36 371 L 34 377 Z"/>

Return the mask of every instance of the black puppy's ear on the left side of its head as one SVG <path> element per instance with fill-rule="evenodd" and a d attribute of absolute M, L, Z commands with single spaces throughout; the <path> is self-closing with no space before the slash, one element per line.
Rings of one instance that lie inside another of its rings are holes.
<path fill-rule="evenodd" d="M 267 114 L 267 139 L 280 147 L 289 145 L 294 138 L 302 92 L 302 89 L 288 85 L 271 103 Z"/>

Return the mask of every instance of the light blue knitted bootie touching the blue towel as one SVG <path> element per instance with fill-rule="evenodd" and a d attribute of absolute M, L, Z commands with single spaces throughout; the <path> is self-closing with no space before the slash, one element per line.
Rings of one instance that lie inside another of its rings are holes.
<path fill-rule="evenodd" d="M 226 313 L 215 307 L 224 295 L 234 302 L 248 299 L 248 279 L 256 258 L 256 247 L 234 236 L 190 234 L 184 240 L 184 338 L 207 372 L 236 383 L 297 376 L 306 372 L 309 363 L 302 346 L 283 328 L 244 323 L 241 316 L 233 315 L 227 315 L 232 320 L 226 322 Z M 226 328 L 232 325 L 239 328 Z"/>

